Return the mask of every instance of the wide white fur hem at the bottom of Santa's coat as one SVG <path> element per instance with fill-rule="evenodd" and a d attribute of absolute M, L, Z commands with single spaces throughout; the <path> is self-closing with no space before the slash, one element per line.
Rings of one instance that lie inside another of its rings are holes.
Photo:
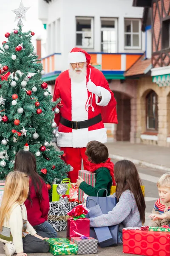
<path fill-rule="evenodd" d="M 88 128 L 73 130 L 73 132 L 58 132 L 57 145 L 59 147 L 84 148 L 91 140 L 98 140 L 101 143 L 107 142 L 107 129 L 88 131 Z M 83 133 L 83 136 L 82 136 Z"/>

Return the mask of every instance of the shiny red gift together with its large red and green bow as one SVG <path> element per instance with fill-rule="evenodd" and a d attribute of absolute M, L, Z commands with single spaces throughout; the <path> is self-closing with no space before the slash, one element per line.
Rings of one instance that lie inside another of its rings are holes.
<path fill-rule="evenodd" d="M 67 238 L 90 236 L 90 220 L 85 218 L 88 211 L 86 207 L 79 204 L 71 212 L 68 212 L 68 215 L 72 217 L 67 221 Z"/>

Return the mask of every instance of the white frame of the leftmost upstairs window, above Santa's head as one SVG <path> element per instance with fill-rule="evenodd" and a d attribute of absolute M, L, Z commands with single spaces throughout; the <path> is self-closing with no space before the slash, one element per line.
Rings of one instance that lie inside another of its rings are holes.
<path fill-rule="evenodd" d="M 77 19 L 79 20 L 91 20 L 91 45 L 92 47 L 83 47 L 82 45 L 77 45 L 77 34 L 83 35 L 86 33 L 85 31 L 77 31 Z M 94 17 L 83 17 L 83 16 L 76 16 L 76 47 L 82 49 L 94 49 Z"/>

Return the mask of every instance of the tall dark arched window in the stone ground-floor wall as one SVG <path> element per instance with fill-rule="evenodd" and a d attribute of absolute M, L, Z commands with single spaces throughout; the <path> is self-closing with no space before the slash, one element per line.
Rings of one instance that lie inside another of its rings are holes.
<path fill-rule="evenodd" d="M 146 96 L 146 126 L 158 131 L 158 96 L 153 90 Z"/>

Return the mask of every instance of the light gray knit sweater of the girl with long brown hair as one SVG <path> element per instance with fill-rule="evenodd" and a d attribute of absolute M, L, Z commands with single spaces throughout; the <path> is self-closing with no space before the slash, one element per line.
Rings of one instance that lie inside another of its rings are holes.
<path fill-rule="evenodd" d="M 110 195 L 115 197 L 115 193 Z M 96 218 L 90 218 L 91 227 L 108 227 L 119 224 L 119 231 L 125 227 L 141 227 L 142 221 L 134 195 L 130 190 L 126 190 L 119 198 L 119 202 L 108 214 L 103 214 Z"/>

